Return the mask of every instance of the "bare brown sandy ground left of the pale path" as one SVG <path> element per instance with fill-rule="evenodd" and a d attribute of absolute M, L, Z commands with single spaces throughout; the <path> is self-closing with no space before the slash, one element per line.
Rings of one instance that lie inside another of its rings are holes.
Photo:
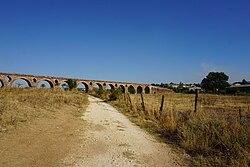
<path fill-rule="evenodd" d="M 80 132 L 86 127 L 79 109 L 69 106 L 43 113 L 0 133 L 0 167 L 64 166 L 62 159 L 78 149 Z"/>

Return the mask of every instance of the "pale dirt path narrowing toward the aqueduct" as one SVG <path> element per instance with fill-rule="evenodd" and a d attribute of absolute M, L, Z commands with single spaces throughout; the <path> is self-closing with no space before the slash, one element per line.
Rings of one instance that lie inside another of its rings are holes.
<path fill-rule="evenodd" d="M 164 143 L 133 125 L 123 114 L 102 100 L 89 96 L 82 117 L 88 123 L 83 145 L 65 164 L 87 166 L 181 166 Z"/>

